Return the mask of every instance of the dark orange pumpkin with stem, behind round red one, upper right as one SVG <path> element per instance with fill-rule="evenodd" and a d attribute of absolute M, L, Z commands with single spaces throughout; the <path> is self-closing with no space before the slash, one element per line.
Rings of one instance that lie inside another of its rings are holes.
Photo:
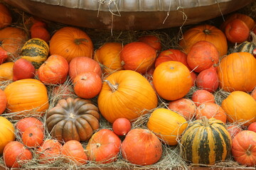
<path fill-rule="evenodd" d="M 188 54 L 192 45 L 201 40 L 206 40 L 215 45 L 220 57 L 226 55 L 228 52 L 228 42 L 225 34 L 215 26 L 207 24 L 186 30 L 186 32 L 183 33 L 183 39 L 181 39 L 178 44 L 181 46 L 181 49 Z"/>

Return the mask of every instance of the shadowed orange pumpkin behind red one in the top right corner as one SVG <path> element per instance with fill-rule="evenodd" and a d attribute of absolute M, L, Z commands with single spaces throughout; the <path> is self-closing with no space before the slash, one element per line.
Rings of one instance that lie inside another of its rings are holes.
<path fill-rule="evenodd" d="M 227 24 L 235 19 L 240 19 L 241 21 L 246 23 L 249 30 L 252 30 L 252 28 L 254 28 L 255 26 L 255 21 L 250 16 L 243 13 L 232 13 L 227 18 L 225 18 L 225 21 L 221 24 L 220 29 L 224 31 Z"/>

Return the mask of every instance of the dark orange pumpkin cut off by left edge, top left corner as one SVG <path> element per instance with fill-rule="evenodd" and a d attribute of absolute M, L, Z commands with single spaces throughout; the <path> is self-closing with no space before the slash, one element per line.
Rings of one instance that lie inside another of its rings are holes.
<path fill-rule="evenodd" d="M 12 17 L 9 8 L 4 4 L 0 4 L 0 28 L 4 28 L 11 24 Z"/>

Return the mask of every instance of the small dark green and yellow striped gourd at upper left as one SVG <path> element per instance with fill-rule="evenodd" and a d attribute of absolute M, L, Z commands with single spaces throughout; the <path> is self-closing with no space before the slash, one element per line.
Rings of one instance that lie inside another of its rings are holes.
<path fill-rule="evenodd" d="M 28 60 L 38 69 L 47 60 L 49 46 L 40 38 L 31 38 L 21 48 L 21 58 Z"/>

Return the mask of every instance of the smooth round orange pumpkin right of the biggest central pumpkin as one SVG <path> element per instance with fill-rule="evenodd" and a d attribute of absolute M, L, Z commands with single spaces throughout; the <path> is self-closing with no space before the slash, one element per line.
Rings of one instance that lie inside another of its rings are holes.
<path fill-rule="evenodd" d="M 192 77 L 188 67 L 181 62 L 163 62 L 154 70 L 153 84 L 161 98 L 175 101 L 188 94 Z"/>

